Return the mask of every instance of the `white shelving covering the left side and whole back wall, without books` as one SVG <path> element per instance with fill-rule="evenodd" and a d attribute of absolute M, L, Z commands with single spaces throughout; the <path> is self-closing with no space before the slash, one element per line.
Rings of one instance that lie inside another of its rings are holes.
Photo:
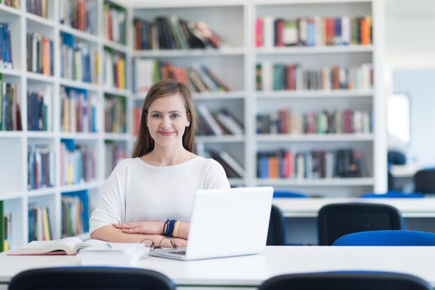
<path fill-rule="evenodd" d="M 124 5 L 122 1 L 113 2 Z M 197 144 L 216 151 L 227 151 L 244 168 L 244 178 L 231 179 L 233 186 L 272 185 L 277 189 L 303 191 L 316 196 L 356 196 L 365 191 L 386 191 L 386 130 L 384 121 L 384 3 L 382 0 L 236 0 L 236 1 L 180 1 L 160 3 L 145 1 L 141 7 L 127 8 L 126 44 L 106 40 L 101 31 L 103 0 L 97 0 L 99 15 L 99 34 L 91 35 L 60 24 L 59 1 L 49 0 L 49 19 L 26 12 L 26 1 L 20 1 L 19 9 L 0 4 L 1 22 L 9 22 L 13 29 L 13 69 L 0 68 L 3 78 L 17 83 L 19 104 L 22 110 L 24 130 L 20 132 L 0 131 L 0 200 L 4 201 L 6 213 L 13 213 L 11 248 L 28 242 L 28 205 L 38 203 L 49 207 L 51 230 L 55 239 L 61 232 L 61 196 L 63 192 L 88 190 L 90 207 L 95 207 L 99 191 L 106 179 L 105 142 L 112 140 L 126 147 L 129 157 L 136 137 L 133 136 L 133 112 L 141 106 L 143 94 L 132 92 L 131 63 L 134 58 L 152 58 L 170 62 L 172 65 L 189 67 L 193 63 L 207 65 L 230 88 L 230 92 L 211 92 L 194 94 L 197 105 L 204 104 L 215 112 L 225 108 L 243 123 L 242 136 L 199 136 Z M 229 47 L 222 49 L 136 51 L 133 49 L 133 19 L 154 19 L 162 15 L 178 15 L 191 21 L 204 20 L 213 31 L 220 35 Z M 254 31 L 256 17 L 266 15 L 295 19 L 320 15 L 338 17 L 342 15 L 372 15 L 373 44 L 367 46 L 321 46 L 256 48 Z M 39 31 L 54 40 L 54 75 L 42 76 L 26 71 L 26 33 Z M 103 56 L 104 47 L 124 53 L 126 57 L 126 89 L 106 87 L 103 80 L 104 66 L 100 61 L 97 84 L 67 80 L 60 77 L 60 33 L 69 33 L 83 42 L 97 47 Z M 270 91 L 260 92 L 255 88 L 256 62 L 298 62 L 306 67 L 331 65 L 357 65 L 372 62 L 374 66 L 375 87 L 367 90 L 331 91 Z M 49 132 L 29 131 L 26 128 L 26 91 L 31 87 L 48 85 L 53 92 L 53 123 Z M 76 87 L 88 90 L 97 105 L 97 133 L 65 133 L 60 128 L 60 87 Z M 104 97 L 106 94 L 122 96 L 126 104 L 126 133 L 104 132 Z M 375 116 L 375 131 L 366 135 L 257 135 L 256 114 L 272 112 L 283 105 L 306 110 L 323 109 L 364 109 L 372 110 Z M 97 177 L 79 185 L 61 185 L 58 168 L 60 167 L 60 140 L 74 139 L 76 143 L 95 146 Z M 45 144 L 55 153 L 54 187 L 27 189 L 27 147 L 29 144 Z M 331 149 L 358 148 L 366 154 L 370 175 L 367 178 L 334 178 L 322 180 L 261 179 L 257 178 L 256 154 L 261 150 L 286 148 Z M 103 161 L 101 161 L 103 160 Z"/>

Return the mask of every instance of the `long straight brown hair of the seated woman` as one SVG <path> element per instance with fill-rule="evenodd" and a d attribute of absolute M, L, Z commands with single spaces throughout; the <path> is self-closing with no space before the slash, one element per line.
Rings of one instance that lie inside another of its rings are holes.
<path fill-rule="evenodd" d="M 147 127 L 148 109 L 151 103 L 164 96 L 177 93 L 183 97 L 186 113 L 188 117 L 190 117 L 190 125 L 186 127 L 186 131 L 184 131 L 183 134 L 183 147 L 193 152 L 195 148 L 195 133 L 197 130 L 197 113 L 195 111 L 192 94 L 190 94 L 190 90 L 184 83 L 177 83 L 174 80 L 162 80 L 152 85 L 147 96 L 145 96 L 142 116 L 140 117 L 138 137 L 136 138 L 133 153 L 131 153 L 132 158 L 141 157 L 154 149 L 154 139 L 151 138 Z"/>

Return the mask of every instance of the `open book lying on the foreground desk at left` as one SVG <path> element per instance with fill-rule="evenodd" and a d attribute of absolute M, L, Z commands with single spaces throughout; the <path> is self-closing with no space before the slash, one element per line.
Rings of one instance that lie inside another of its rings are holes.
<path fill-rule="evenodd" d="M 98 239 L 82 241 L 78 237 L 67 237 L 54 241 L 32 241 L 26 246 L 11 250 L 8 255 L 76 255 L 83 248 L 106 244 L 106 241 Z"/>

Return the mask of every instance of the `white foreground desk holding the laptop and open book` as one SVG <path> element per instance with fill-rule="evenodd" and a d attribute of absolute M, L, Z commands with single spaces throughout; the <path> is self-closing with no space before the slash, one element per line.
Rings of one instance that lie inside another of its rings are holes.
<path fill-rule="evenodd" d="M 145 257 L 136 264 L 164 273 L 178 289 L 256 289 L 284 273 L 313 271 L 395 271 L 410 273 L 435 286 L 435 247 L 267 247 L 260 255 L 182 262 Z M 0 287 L 28 268 L 74 266 L 74 256 L 0 255 Z"/>

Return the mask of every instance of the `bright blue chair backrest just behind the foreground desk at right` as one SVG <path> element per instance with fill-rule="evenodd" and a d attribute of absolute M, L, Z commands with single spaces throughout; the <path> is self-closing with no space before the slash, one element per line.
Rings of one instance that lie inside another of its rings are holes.
<path fill-rule="evenodd" d="M 354 232 L 338 238 L 333 246 L 435 246 L 435 233 L 416 230 Z"/>

